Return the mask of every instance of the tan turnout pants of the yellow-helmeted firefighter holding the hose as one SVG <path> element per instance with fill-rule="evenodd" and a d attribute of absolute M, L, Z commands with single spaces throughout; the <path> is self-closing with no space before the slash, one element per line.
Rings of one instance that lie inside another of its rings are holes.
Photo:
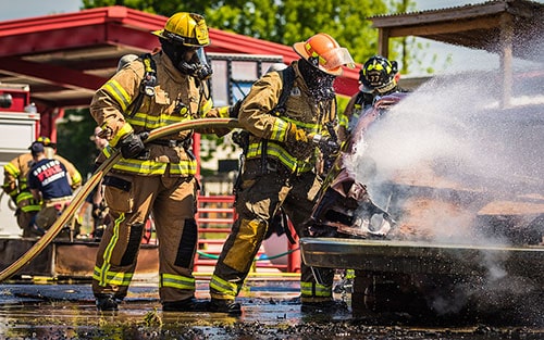
<path fill-rule="evenodd" d="M 197 181 L 190 177 L 119 176 L 104 179 L 110 209 L 92 275 L 96 297 L 126 297 L 145 224 L 152 213 L 159 241 L 161 302 L 194 297 L 193 263 L 198 241 L 195 222 Z"/>

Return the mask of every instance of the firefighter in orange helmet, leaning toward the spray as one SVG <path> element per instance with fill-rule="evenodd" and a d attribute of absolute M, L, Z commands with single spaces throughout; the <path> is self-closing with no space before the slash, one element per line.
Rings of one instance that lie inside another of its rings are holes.
<path fill-rule="evenodd" d="M 323 126 L 336 119 L 333 81 L 343 65 L 353 67 L 354 62 L 347 49 L 323 33 L 293 48 L 300 59 L 283 71 L 262 76 L 240 104 L 238 121 L 250 133 L 249 144 L 236 188 L 238 217 L 210 281 L 211 312 L 242 313 L 235 298 L 280 207 L 299 237 L 309 236 L 304 223 L 321 185 L 312 136 L 326 136 Z M 294 74 L 292 88 L 279 109 L 282 88 L 288 85 L 284 77 L 289 72 Z M 311 268 L 301 265 L 304 311 L 333 307 L 333 274 L 324 270 L 318 281 Z"/>

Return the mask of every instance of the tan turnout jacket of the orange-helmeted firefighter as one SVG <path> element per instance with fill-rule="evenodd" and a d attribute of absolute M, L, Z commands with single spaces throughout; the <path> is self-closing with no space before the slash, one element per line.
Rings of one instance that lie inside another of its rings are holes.
<path fill-rule="evenodd" d="M 336 118 L 334 100 L 316 103 L 309 95 L 298 62 L 290 67 L 295 70 L 295 80 L 290 93 L 281 113 L 274 113 L 282 93 L 283 80 L 277 72 L 270 72 L 257 80 L 245 98 L 238 121 L 251 133 L 246 158 L 261 158 L 265 142 L 265 156 L 284 164 L 292 173 L 304 173 L 314 168 L 318 149 L 311 142 L 292 144 L 287 141 L 289 123 L 302 128 L 307 135 L 329 135 L 323 125 Z"/>

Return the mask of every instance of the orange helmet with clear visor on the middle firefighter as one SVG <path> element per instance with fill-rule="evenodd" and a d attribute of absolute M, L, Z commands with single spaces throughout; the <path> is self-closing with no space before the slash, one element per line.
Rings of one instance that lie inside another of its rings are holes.
<path fill-rule="evenodd" d="M 312 66 L 334 76 L 342 74 L 341 66 L 355 67 L 349 51 L 324 33 L 318 33 L 306 41 L 295 42 L 293 49 Z"/>

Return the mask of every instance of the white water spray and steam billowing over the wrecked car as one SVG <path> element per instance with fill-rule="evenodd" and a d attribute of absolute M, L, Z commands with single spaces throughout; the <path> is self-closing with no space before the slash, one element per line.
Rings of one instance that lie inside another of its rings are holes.
<path fill-rule="evenodd" d="M 375 203 L 426 240 L 507 245 L 508 235 L 474 228 L 479 215 L 487 211 L 493 216 L 496 211 L 508 215 L 517 209 L 511 202 L 520 201 L 534 204 L 526 224 L 534 218 L 534 206 L 541 209 L 539 218 L 544 221 L 544 67 L 540 67 L 540 78 L 515 77 L 509 109 L 502 109 L 498 72 L 435 77 L 375 122 L 345 164 L 368 185 Z M 392 196 L 399 193 L 387 186 L 392 182 L 418 190 L 388 206 Z M 397 215 L 400 207 L 409 221 Z M 481 305 L 486 305 L 534 290 L 530 280 L 516 273 L 523 268 L 507 269 L 507 253 L 482 250 L 478 257 L 462 256 L 459 252 L 461 262 L 477 261 L 486 284 L 461 282 L 449 295 L 429 297 L 438 312 L 457 312 L 472 297 L 482 298 Z"/>

